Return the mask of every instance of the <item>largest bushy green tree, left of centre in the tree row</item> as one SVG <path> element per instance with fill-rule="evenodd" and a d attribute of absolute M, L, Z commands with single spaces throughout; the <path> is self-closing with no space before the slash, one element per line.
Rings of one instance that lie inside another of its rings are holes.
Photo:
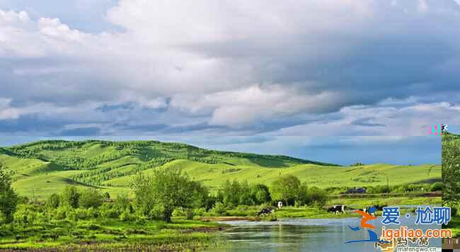
<path fill-rule="evenodd" d="M 132 183 L 136 206 L 149 217 L 152 210 L 162 210 L 163 220 L 171 222 L 177 207 L 192 207 L 197 204 L 200 183 L 191 181 L 180 169 L 154 169 L 153 176 L 138 173 Z"/>

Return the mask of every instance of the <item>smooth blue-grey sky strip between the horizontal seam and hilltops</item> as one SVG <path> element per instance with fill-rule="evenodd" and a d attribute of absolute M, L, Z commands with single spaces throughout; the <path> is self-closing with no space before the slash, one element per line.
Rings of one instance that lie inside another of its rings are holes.
<path fill-rule="evenodd" d="M 301 159 L 350 165 L 364 164 L 441 164 L 441 140 L 425 137 L 306 137 L 306 136 L 137 136 L 137 137 L 2 137 L 0 146 L 11 146 L 40 139 L 107 139 L 185 142 L 206 149 L 283 154 Z"/>

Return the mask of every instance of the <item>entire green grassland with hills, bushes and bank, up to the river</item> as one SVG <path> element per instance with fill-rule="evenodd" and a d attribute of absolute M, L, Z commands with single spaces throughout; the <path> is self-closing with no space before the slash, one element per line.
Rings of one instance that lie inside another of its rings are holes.
<path fill-rule="evenodd" d="M 179 143 L 98 140 L 0 148 L 0 166 L 20 196 L 10 222 L 0 214 L 0 248 L 8 249 L 213 250 L 224 246 L 215 233 L 226 226 L 218 220 L 331 219 L 354 214 L 333 214 L 330 205 L 441 204 L 436 164 L 339 166 Z M 355 187 L 367 193 L 344 194 Z M 282 210 L 258 215 L 279 200 Z"/>

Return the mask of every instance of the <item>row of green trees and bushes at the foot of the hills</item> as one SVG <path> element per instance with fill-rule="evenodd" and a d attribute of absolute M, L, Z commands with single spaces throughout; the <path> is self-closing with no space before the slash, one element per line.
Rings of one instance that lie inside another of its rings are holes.
<path fill-rule="evenodd" d="M 96 188 L 83 190 L 68 185 L 61 192 L 47 198 L 42 214 L 26 205 L 19 205 L 20 197 L 11 187 L 11 175 L 0 164 L 0 222 L 28 224 L 45 214 L 49 218 L 108 217 L 130 219 L 162 219 L 171 222 L 175 210 L 185 211 L 188 218 L 201 212 L 222 212 L 239 205 L 317 205 L 326 203 L 326 192 L 308 188 L 295 176 L 280 176 L 268 185 L 247 181 L 226 181 L 216 194 L 209 193 L 202 183 L 192 181 L 179 168 L 154 169 L 146 176 L 137 173 L 132 181 L 134 198 L 118 195 L 114 203 L 106 202 L 108 193 Z M 40 218 L 41 218 L 40 217 Z"/>

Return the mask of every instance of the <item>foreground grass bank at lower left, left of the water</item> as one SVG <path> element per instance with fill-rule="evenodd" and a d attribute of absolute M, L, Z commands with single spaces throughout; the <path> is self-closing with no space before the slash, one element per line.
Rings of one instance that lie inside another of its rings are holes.
<path fill-rule="evenodd" d="M 0 229 L 1 249 L 195 251 L 218 248 L 214 233 L 225 224 L 173 219 L 173 222 L 116 219 L 52 221 Z"/>

